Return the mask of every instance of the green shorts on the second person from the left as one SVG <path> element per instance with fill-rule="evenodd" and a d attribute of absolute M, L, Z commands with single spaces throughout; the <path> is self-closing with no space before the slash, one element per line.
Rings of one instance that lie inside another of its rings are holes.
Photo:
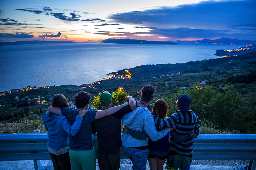
<path fill-rule="evenodd" d="M 72 170 L 96 170 L 96 157 L 94 148 L 87 151 L 69 150 Z"/>

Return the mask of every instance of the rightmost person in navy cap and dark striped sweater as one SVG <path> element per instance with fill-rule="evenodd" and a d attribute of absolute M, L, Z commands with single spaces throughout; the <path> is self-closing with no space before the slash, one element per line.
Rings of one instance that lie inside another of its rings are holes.
<path fill-rule="evenodd" d="M 197 115 L 189 110 L 190 97 L 186 94 L 181 94 L 176 101 L 176 105 L 179 108 L 174 114 L 167 119 L 160 119 L 156 115 L 154 116 L 155 123 L 161 127 L 172 127 L 177 134 L 184 135 L 194 132 L 199 135 L 199 120 Z M 192 162 L 193 152 L 193 139 L 189 139 L 184 142 L 175 142 L 172 138 L 169 140 L 169 153 L 166 162 L 167 170 L 189 170 Z"/>

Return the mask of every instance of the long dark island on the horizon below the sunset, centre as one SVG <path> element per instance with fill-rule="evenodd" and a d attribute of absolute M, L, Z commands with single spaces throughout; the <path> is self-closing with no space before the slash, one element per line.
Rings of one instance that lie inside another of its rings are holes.
<path fill-rule="evenodd" d="M 115 39 L 115 38 L 108 38 L 106 40 L 101 41 L 101 43 L 115 43 L 115 44 L 178 44 L 178 43 L 163 42 L 163 41 L 146 41 L 146 40 Z"/>

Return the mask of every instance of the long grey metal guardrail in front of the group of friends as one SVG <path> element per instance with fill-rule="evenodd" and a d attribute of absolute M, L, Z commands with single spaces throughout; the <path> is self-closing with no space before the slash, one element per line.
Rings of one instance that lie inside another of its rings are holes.
<path fill-rule="evenodd" d="M 97 154 L 97 137 L 92 136 Z M 35 169 L 42 167 L 40 160 L 50 160 L 47 134 L 0 134 L 0 161 L 34 160 Z M 128 159 L 121 151 L 121 159 Z M 246 159 L 247 167 L 256 167 L 256 135 L 244 134 L 200 134 L 194 140 L 193 159 Z"/>

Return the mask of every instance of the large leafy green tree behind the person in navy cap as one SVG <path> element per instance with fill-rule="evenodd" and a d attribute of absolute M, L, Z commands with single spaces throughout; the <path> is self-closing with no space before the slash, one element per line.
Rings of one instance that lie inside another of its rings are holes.
<path fill-rule="evenodd" d="M 217 91 L 213 86 L 200 88 L 196 83 L 190 84 L 191 88 L 178 89 L 174 94 L 164 96 L 169 105 L 169 116 L 175 113 L 176 101 L 180 94 L 190 96 L 190 110 L 197 114 L 199 121 L 207 120 L 216 124 L 221 129 L 231 129 L 247 132 L 245 129 L 246 109 L 243 107 L 241 95 L 228 86 L 225 93 Z M 253 115 L 253 113 L 251 113 Z M 256 121 L 250 122 L 250 124 Z"/>

